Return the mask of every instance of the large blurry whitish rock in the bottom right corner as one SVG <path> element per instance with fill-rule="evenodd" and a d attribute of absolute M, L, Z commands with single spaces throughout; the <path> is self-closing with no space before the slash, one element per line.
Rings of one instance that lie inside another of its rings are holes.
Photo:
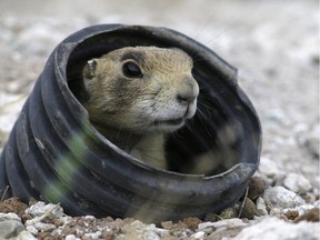
<path fill-rule="evenodd" d="M 319 222 L 299 222 L 291 223 L 278 218 L 264 218 L 257 224 L 244 228 L 232 240 L 293 240 L 293 239 L 319 239 Z"/>

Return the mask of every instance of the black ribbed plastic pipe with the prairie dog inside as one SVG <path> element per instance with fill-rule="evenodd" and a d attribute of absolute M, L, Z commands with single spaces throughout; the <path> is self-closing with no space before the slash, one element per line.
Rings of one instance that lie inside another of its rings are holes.
<path fill-rule="evenodd" d="M 194 119 L 169 137 L 170 169 L 147 166 L 102 137 L 78 101 L 92 58 L 133 46 L 180 48 L 200 87 Z M 239 200 L 258 168 L 261 128 L 237 70 L 170 29 L 101 24 L 63 40 L 48 59 L 0 158 L 0 196 L 60 202 L 69 214 L 134 217 L 147 222 L 203 217 Z M 201 156 L 214 168 L 190 174 Z"/>

